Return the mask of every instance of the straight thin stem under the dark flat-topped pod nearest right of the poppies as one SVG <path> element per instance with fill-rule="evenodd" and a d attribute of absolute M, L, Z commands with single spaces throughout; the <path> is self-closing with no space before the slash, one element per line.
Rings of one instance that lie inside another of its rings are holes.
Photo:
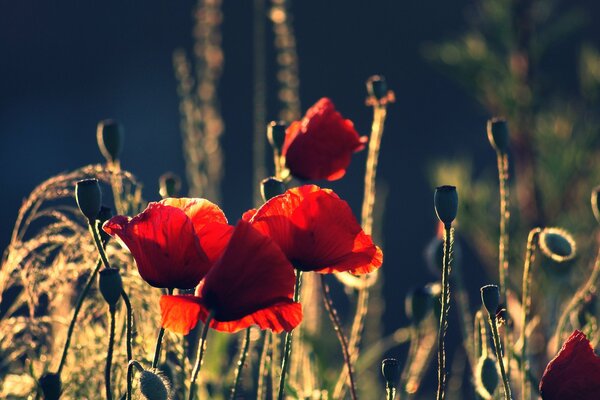
<path fill-rule="evenodd" d="M 444 227 L 444 262 L 442 266 L 442 310 L 438 331 L 438 389 L 437 400 L 446 395 L 446 349 L 445 338 L 448 327 L 448 309 L 450 307 L 450 268 L 452 263 L 452 246 L 454 245 L 454 228 Z"/>

